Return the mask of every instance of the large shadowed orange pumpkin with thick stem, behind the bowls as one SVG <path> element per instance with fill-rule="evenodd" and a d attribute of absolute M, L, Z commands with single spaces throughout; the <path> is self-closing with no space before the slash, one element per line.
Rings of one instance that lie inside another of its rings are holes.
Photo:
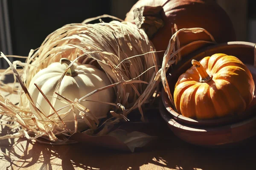
<path fill-rule="evenodd" d="M 141 12 L 138 15 L 144 17 L 144 24 L 139 24 L 139 28 L 145 29 L 157 51 L 167 49 L 174 24 L 178 30 L 204 28 L 218 43 L 236 41 L 235 30 L 229 16 L 214 0 L 139 0 L 127 13 L 125 21 L 136 23 L 138 26 L 140 20 L 134 20 L 134 10 L 142 7 L 144 8 L 139 10 Z M 180 47 L 198 40 L 211 39 L 204 32 L 179 34 Z M 204 45 L 207 43 L 201 42 L 186 47 L 181 51 L 181 56 L 186 56 Z M 163 54 L 164 52 L 158 53 L 160 61 Z"/>

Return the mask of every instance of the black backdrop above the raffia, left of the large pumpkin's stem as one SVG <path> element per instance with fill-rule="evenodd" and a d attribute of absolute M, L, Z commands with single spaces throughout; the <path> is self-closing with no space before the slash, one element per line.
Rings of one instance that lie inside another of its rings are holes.
<path fill-rule="evenodd" d="M 128 0 L 131 3 L 123 3 L 120 9 L 119 6 L 113 6 L 113 2 L 118 3 L 118 0 L 114 1 L 8 0 L 12 53 L 27 56 L 30 49 L 38 48 L 48 34 L 65 24 L 81 23 L 87 18 L 103 14 L 118 14 L 124 20 L 133 2 L 136 3 L 136 0 Z M 110 21 L 107 18 L 103 20 Z"/>

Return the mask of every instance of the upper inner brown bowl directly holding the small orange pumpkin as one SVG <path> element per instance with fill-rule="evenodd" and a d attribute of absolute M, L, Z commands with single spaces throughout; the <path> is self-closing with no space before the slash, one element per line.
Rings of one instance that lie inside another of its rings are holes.
<path fill-rule="evenodd" d="M 227 55 L 233 55 L 239 58 L 247 67 L 250 69 L 253 74 L 254 82 L 256 82 L 256 69 L 253 67 L 254 58 L 256 57 L 256 48 L 254 43 L 250 42 L 227 42 L 223 44 L 213 45 L 208 48 L 204 48 L 200 51 L 196 51 L 195 53 L 184 57 L 177 65 L 175 65 L 172 70 L 168 71 L 167 81 L 169 84 L 169 88 L 171 94 L 173 95 L 175 84 L 177 79 L 181 74 L 185 73 L 187 69 L 191 68 L 192 59 L 201 60 L 204 57 L 211 56 L 216 53 L 224 53 Z M 244 113 L 239 115 L 225 116 L 222 118 L 216 119 L 192 119 L 185 117 L 175 111 L 175 107 L 169 101 L 168 95 L 162 89 L 162 101 L 166 110 L 172 115 L 173 119 L 179 123 L 196 126 L 196 127 L 218 127 L 220 125 L 230 125 L 232 123 L 240 122 L 241 120 L 249 119 L 253 116 L 254 111 L 256 110 L 256 98 L 253 98 L 253 102 L 250 107 L 247 108 Z"/>

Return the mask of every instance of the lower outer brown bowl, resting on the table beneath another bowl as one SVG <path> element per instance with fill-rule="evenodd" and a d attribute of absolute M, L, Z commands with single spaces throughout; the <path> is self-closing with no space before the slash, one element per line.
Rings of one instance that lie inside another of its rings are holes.
<path fill-rule="evenodd" d="M 162 101 L 160 101 L 159 110 L 173 133 L 190 144 L 203 147 L 233 147 L 256 135 L 256 116 L 232 125 L 192 127 L 173 119 Z"/>

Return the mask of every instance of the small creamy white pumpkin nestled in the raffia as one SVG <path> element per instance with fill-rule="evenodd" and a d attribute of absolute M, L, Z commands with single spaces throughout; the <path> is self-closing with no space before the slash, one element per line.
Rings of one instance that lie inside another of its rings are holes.
<path fill-rule="evenodd" d="M 46 96 L 52 96 L 59 79 L 63 75 L 64 71 L 67 69 L 67 65 L 70 64 L 70 61 L 65 59 L 62 59 L 62 62 L 64 62 L 65 64 L 61 64 L 60 62 L 54 62 L 47 68 L 42 69 L 32 78 L 29 84 L 29 94 L 31 94 L 32 99 L 36 103 L 36 106 L 41 109 L 46 115 L 49 115 L 50 106 L 44 99 L 42 94 L 38 91 L 34 83 L 36 83 L 38 87 L 41 88 Z M 110 84 L 111 82 L 109 81 L 107 75 L 93 65 L 79 65 L 77 63 L 74 63 L 73 66 L 70 67 L 69 72 L 62 79 L 58 93 L 66 97 L 67 99 L 74 101 L 75 99 L 80 99 L 81 97 L 89 94 L 90 92 L 98 88 L 102 88 Z M 50 102 L 52 101 L 51 97 L 47 98 Z M 101 102 L 112 102 L 113 88 L 99 91 L 91 96 L 88 96 L 86 99 Z M 88 108 L 90 112 L 98 118 L 106 116 L 108 111 L 110 110 L 110 105 L 102 104 L 99 102 L 84 101 L 80 102 L 80 104 Z M 53 107 L 58 110 L 66 105 L 67 104 L 56 100 Z M 30 105 L 30 108 L 31 110 L 34 110 L 32 108 L 32 105 Z M 61 115 L 61 113 L 65 113 L 69 109 L 70 106 L 62 109 L 58 112 L 58 114 Z M 77 119 L 81 119 L 81 116 L 79 116 L 79 111 L 77 109 L 76 116 Z M 67 116 L 65 116 L 63 120 L 74 120 L 73 113 L 70 112 Z M 66 125 L 69 129 L 74 129 L 74 122 L 66 123 Z M 85 124 L 85 122 L 80 122 L 78 123 L 78 127 L 78 130 L 83 130 L 87 127 L 87 125 Z"/>

